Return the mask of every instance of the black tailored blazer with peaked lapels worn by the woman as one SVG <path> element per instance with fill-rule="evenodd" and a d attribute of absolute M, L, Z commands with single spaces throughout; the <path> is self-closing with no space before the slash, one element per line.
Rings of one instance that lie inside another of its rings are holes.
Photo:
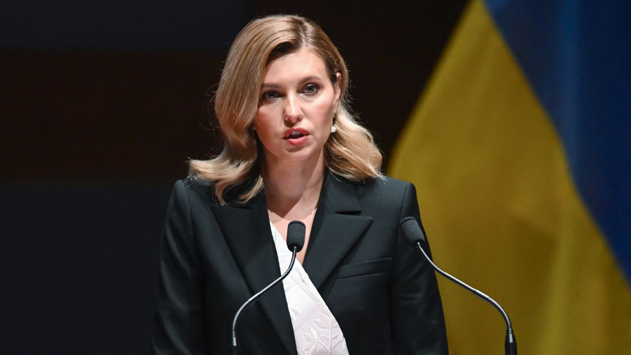
<path fill-rule="evenodd" d="M 351 355 L 447 354 L 435 274 L 399 232 L 408 216 L 420 222 L 412 184 L 350 183 L 327 172 L 303 267 Z M 220 205 L 211 184 L 177 181 L 152 353 L 227 354 L 235 312 L 280 274 L 264 193 L 245 205 Z M 237 335 L 244 355 L 297 354 L 283 287 L 245 310 Z"/>

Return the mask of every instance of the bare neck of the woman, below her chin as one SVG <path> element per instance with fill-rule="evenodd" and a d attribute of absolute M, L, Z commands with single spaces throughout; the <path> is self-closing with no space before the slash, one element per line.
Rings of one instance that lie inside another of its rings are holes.
<path fill-rule="evenodd" d="M 266 160 L 264 179 L 268 209 L 274 214 L 315 210 L 324 180 L 324 153 L 298 164 Z"/>

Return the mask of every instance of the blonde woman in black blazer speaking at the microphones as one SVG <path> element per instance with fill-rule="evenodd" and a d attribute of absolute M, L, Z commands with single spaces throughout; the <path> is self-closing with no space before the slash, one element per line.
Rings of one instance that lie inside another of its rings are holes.
<path fill-rule="evenodd" d="M 225 354 L 239 306 L 280 276 L 288 222 L 307 227 L 284 287 L 239 321 L 243 354 L 447 354 L 432 268 L 400 236 L 413 185 L 346 106 L 348 71 L 300 16 L 251 21 L 215 111 L 225 143 L 175 184 L 160 260 L 155 354 Z"/>

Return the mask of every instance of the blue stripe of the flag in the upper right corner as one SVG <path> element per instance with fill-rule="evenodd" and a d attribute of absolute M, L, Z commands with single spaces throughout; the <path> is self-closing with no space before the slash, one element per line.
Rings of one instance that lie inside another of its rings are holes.
<path fill-rule="evenodd" d="M 631 1 L 485 4 L 631 282 Z"/>

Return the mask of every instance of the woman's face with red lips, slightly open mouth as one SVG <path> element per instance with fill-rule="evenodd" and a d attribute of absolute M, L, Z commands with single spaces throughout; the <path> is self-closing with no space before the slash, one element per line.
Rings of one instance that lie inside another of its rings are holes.
<path fill-rule="evenodd" d="M 268 64 L 254 119 L 266 164 L 322 159 L 339 81 L 338 74 L 337 83 L 331 82 L 324 61 L 307 47 Z"/>

